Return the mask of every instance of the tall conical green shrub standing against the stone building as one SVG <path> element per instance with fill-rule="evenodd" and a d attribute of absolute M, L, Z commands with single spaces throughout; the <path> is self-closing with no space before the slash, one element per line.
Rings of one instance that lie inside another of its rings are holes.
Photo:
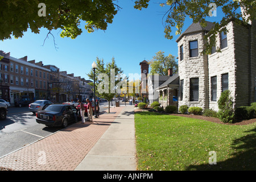
<path fill-rule="evenodd" d="M 218 118 L 224 123 L 232 123 L 234 119 L 233 98 L 230 96 L 230 90 L 221 93 L 218 100 Z"/>

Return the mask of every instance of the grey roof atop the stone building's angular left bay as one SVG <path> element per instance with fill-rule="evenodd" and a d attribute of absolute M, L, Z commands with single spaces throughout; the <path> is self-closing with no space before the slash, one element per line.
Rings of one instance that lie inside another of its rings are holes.
<path fill-rule="evenodd" d="M 208 22 L 208 21 L 205 21 L 207 23 L 207 26 L 206 27 L 202 27 L 201 24 L 200 24 L 200 21 L 197 22 L 197 23 L 192 23 L 188 28 L 187 30 L 185 30 L 180 36 L 179 38 L 177 38 L 176 42 L 179 42 L 179 40 L 184 36 L 184 35 L 187 35 L 187 34 L 192 34 L 192 33 L 195 33 L 195 32 L 204 32 L 204 31 L 207 31 L 209 32 L 210 29 L 212 29 L 212 27 L 214 26 L 214 23 L 213 22 Z"/>

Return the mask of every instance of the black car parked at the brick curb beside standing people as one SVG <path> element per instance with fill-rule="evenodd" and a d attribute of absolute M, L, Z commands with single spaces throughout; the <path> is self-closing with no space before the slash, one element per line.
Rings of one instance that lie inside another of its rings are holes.
<path fill-rule="evenodd" d="M 36 113 L 36 122 L 46 126 L 67 127 L 68 123 L 77 122 L 77 109 L 72 105 L 49 105 Z"/>

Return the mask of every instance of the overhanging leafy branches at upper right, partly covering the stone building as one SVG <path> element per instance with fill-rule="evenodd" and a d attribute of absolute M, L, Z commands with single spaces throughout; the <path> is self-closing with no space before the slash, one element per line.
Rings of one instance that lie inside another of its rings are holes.
<path fill-rule="evenodd" d="M 135 9 L 142 10 L 148 7 L 148 3 L 152 0 L 135 1 Z M 176 28 L 175 34 L 181 34 L 185 18 L 191 18 L 194 23 L 200 22 L 202 27 L 206 27 L 205 19 L 213 16 L 216 7 L 220 7 L 224 16 L 219 22 L 213 22 L 214 27 L 205 35 L 207 41 L 206 48 L 202 53 L 210 54 L 212 47 L 216 42 L 217 34 L 221 31 L 226 33 L 226 25 L 228 20 L 232 19 L 237 23 L 248 23 L 256 19 L 256 1 L 255 0 L 166 0 L 164 3 L 159 2 L 163 8 L 167 7 L 166 14 L 163 17 L 165 38 L 172 39 L 172 30 Z M 242 7 L 245 16 L 242 17 L 240 8 Z M 220 16 L 218 14 L 218 16 Z M 243 18 L 243 22 L 240 20 Z M 220 52 L 220 49 L 216 50 Z"/>

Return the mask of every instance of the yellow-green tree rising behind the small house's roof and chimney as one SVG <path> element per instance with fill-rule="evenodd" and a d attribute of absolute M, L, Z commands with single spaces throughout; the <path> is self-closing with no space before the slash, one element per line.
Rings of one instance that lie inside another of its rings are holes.
<path fill-rule="evenodd" d="M 168 75 L 168 69 L 172 68 L 173 73 L 177 73 L 178 65 L 175 56 L 164 55 L 163 51 L 156 52 L 156 55 L 148 62 L 150 64 L 150 73 L 159 75 Z"/>

